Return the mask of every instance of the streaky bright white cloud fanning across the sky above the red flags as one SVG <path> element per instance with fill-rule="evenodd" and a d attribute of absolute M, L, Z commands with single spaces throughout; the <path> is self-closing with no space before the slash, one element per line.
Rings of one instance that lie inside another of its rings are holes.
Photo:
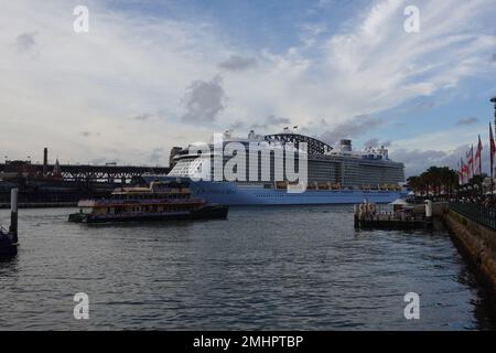
<path fill-rule="evenodd" d="M 337 110 L 333 116 L 374 114 L 432 97 L 489 69 L 487 53 L 494 51 L 496 39 L 475 33 L 471 21 L 486 18 L 478 8 L 486 1 L 422 2 L 419 35 L 402 30 L 407 4 L 376 1 L 352 31 L 327 40 L 321 78 L 328 83 L 326 96 L 335 104 L 331 111 Z"/>

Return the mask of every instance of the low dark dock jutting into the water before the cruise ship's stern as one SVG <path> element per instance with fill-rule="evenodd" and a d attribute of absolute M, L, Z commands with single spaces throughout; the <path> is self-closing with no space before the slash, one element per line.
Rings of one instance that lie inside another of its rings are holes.
<path fill-rule="evenodd" d="M 401 204 L 392 212 L 381 212 L 377 205 L 362 203 L 354 206 L 355 228 L 360 229 L 432 229 L 432 202 L 425 204 L 425 214 L 413 212 L 414 205 Z"/>

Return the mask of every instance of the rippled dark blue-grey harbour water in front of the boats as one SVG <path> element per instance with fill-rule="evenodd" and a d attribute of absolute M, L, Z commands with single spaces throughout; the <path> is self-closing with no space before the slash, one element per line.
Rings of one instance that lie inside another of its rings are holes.
<path fill-rule="evenodd" d="M 495 329 L 443 229 L 355 232 L 351 206 L 231 207 L 228 221 L 88 226 L 20 210 L 0 329 Z M 9 211 L 0 212 L 9 223 Z M 420 295 L 420 320 L 403 296 Z M 75 320 L 86 292 L 89 320 Z"/>

